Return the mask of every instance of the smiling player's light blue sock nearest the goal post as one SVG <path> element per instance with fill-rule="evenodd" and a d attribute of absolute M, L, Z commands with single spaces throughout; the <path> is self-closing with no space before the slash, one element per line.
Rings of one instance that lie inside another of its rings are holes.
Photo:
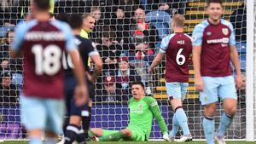
<path fill-rule="evenodd" d="M 218 136 L 223 137 L 226 130 L 230 127 L 233 117 L 229 116 L 226 112 L 223 113 L 220 118 L 220 124 L 218 126 Z"/>

